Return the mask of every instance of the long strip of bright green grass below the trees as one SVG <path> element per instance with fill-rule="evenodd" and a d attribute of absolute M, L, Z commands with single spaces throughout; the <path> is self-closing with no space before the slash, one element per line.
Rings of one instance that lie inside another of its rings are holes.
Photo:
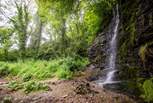
<path fill-rule="evenodd" d="M 0 62 L 0 76 L 16 76 L 24 82 L 52 77 L 69 79 L 76 71 L 83 70 L 87 64 L 88 60 L 81 57 L 58 58 L 50 61 Z"/>

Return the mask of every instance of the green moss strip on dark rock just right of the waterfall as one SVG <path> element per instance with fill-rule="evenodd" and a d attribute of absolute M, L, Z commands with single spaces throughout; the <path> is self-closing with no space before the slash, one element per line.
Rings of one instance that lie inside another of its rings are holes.
<path fill-rule="evenodd" d="M 136 33 L 136 12 L 137 2 L 128 1 L 121 6 L 122 10 L 122 31 L 123 34 L 120 39 L 120 57 L 124 58 L 128 54 L 128 50 L 131 50 L 135 46 L 137 39 Z"/>

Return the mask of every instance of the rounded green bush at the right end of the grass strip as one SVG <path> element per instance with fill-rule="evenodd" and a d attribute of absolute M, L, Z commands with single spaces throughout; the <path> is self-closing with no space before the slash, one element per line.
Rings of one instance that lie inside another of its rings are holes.
<path fill-rule="evenodd" d="M 59 61 L 56 75 L 58 78 L 70 79 L 76 71 L 83 70 L 87 64 L 88 60 L 79 56 L 63 58 Z"/>

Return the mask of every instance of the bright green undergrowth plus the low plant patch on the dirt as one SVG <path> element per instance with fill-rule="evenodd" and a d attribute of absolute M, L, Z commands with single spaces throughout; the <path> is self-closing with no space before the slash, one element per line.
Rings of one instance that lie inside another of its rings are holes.
<path fill-rule="evenodd" d="M 15 63 L 0 62 L 3 71 L 9 70 L 10 76 L 19 78 L 17 82 L 10 82 L 8 87 L 12 90 L 23 90 L 30 93 L 39 90 L 48 90 L 48 86 L 34 80 L 42 80 L 51 77 L 60 79 L 71 79 L 77 71 L 83 70 L 88 64 L 87 58 L 80 56 L 58 58 L 50 61 L 45 60 L 28 60 L 25 62 L 18 61 Z M 7 75 L 7 74 L 5 74 Z"/>

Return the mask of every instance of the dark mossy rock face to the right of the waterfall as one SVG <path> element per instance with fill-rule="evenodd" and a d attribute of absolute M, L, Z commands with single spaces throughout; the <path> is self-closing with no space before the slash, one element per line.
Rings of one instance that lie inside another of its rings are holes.
<path fill-rule="evenodd" d="M 153 69 L 153 1 L 120 1 L 122 23 L 118 61 L 127 79 L 151 77 Z M 125 71 L 125 69 L 123 70 Z"/>

